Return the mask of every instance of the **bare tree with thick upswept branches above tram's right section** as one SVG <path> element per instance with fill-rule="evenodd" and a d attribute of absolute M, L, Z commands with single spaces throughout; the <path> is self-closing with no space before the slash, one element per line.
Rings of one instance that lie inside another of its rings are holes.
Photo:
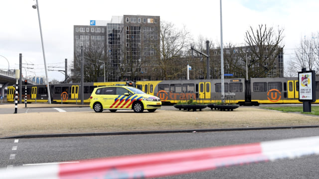
<path fill-rule="evenodd" d="M 256 30 L 250 27 L 245 34 L 245 42 L 248 48 L 241 50 L 241 59 L 246 59 L 248 53 L 249 77 L 268 77 L 274 68 L 275 60 L 282 53 L 284 45 L 283 29 L 267 28 L 266 25 L 259 25 Z M 244 61 L 246 64 L 246 60 Z"/>

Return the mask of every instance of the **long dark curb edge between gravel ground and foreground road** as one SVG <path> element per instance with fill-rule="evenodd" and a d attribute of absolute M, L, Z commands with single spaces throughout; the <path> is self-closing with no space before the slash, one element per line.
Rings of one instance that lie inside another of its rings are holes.
<path fill-rule="evenodd" d="M 223 128 L 223 129 L 185 129 L 185 130 L 159 130 L 159 131 L 126 131 L 126 132 L 97 132 L 97 133 L 70 133 L 70 134 L 38 134 L 18 135 L 2 137 L 0 139 L 16 138 L 49 138 L 49 137 L 85 137 L 85 136 L 110 136 L 110 135 L 137 135 L 137 134 L 166 134 L 166 133 L 197 133 L 220 131 L 244 131 L 244 130 L 275 130 L 275 129 L 301 129 L 319 128 L 319 125 L 311 126 L 279 126 L 279 127 L 247 127 L 247 128 Z"/>

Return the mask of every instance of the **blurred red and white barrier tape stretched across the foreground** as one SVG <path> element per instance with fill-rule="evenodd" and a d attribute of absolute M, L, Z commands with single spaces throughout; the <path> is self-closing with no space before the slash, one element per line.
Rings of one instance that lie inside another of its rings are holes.
<path fill-rule="evenodd" d="M 1 169 L 1 179 L 146 179 L 319 154 L 319 136 Z"/>

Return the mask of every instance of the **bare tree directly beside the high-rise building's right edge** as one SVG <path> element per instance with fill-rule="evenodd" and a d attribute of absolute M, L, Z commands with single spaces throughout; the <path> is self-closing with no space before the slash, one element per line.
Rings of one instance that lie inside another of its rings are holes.
<path fill-rule="evenodd" d="M 161 21 L 160 24 L 160 57 L 157 61 L 160 67 L 160 79 L 169 80 L 175 78 L 186 69 L 180 60 L 185 51 L 190 47 L 191 36 L 185 26 L 176 29 L 174 24 Z"/>

